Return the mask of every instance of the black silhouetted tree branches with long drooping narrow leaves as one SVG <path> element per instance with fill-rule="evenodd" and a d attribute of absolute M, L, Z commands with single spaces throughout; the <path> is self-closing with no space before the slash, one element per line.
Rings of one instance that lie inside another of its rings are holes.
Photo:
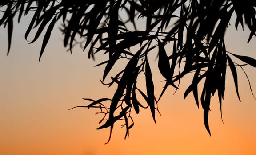
<path fill-rule="evenodd" d="M 211 97 L 217 93 L 221 111 L 226 70 L 232 72 L 240 100 L 236 67 L 243 69 L 246 64 L 256 67 L 255 59 L 228 52 L 224 42 L 232 16 L 236 17 L 236 29 L 240 25 L 251 31 L 248 42 L 255 35 L 255 0 L 1 0 L 0 7 L 3 12 L 0 26 L 8 29 L 7 54 L 11 47 L 13 20 L 20 22 L 23 16 L 31 13 L 25 39 L 28 40 L 32 29 L 36 29 L 36 33 L 29 43 L 44 35 L 39 60 L 58 21 L 64 46 L 69 46 L 70 52 L 73 46 L 80 45 L 83 50 L 87 49 L 88 58 L 94 59 L 100 52 L 108 55 L 107 61 L 96 66 L 105 65 L 101 82 L 109 87 L 116 84 L 116 92 L 112 98 L 84 98 L 91 103 L 77 107 L 96 108 L 104 114 L 100 123 L 106 121 L 98 129 L 110 127 L 109 140 L 117 120 L 124 121 L 125 138 L 129 136 L 129 129 L 134 125 L 132 109 L 138 114 L 141 108 L 149 108 L 156 122 L 157 103 L 165 90 L 168 86 L 178 89 L 180 79 L 187 74 L 193 74 L 193 79 L 184 98 L 192 93 L 197 106 L 201 104 L 204 125 L 210 134 Z M 44 29 L 46 32 L 42 34 Z M 138 50 L 132 50 L 133 46 L 139 47 Z M 148 62 L 148 54 L 152 52 L 157 52 L 158 68 L 165 79 L 159 97 L 154 95 L 152 67 Z M 245 64 L 233 62 L 232 57 Z M 110 77 L 110 83 L 104 83 L 116 62 L 121 60 L 126 60 L 125 68 Z M 139 75 L 145 77 L 146 91 L 136 83 Z M 203 85 L 200 95 L 199 85 Z M 137 100 L 138 94 L 144 98 L 146 106 Z"/>

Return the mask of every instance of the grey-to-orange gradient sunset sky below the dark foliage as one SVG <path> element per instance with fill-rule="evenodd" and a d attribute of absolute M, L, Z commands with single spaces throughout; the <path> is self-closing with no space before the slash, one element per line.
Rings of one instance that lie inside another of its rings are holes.
<path fill-rule="evenodd" d="M 156 114 L 157 125 L 149 109 L 141 110 L 139 115 L 134 113 L 135 125 L 128 139 L 124 140 L 125 129 L 117 123 L 110 143 L 104 145 L 109 129 L 96 130 L 101 119 L 95 115 L 97 110 L 68 110 L 88 104 L 83 97 L 112 97 L 114 87 L 100 84 L 103 67 L 93 67 L 103 58 L 96 55 L 96 62 L 88 60 L 80 48 L 75 48 L 72 55 L 66 52 L 63 36 L 55 27 L 38 62 L 42 40 L 33 44 L 25 41 L 28 22 L 24 18 L 14 25 L 8 56 L 7 30 L 0 27 L 0 155 L 256 155 L 256 101 L 240 69 L 242 102 L 236 97 L 228 70 L 224 124 L 214 97 L 209 114 L 211 137 L 204 128 L 203 109 L 197 108 L 191 94 L 183 100 L 191 81 L 188 76 L 182 79 L 175 95 L 174 89 L 168 89 L 160 100 L 162 116 Z M 256 39 L 246 44 L 248 35 L 247 29 L 236 32 L 230 27 L 227 50 L 256 58 Z M 256 70 L 249 66 L 244 69 L 256 93 Z M 154 78 L 160 84 L 155 86 L 156 94 L 161 91 L 161 80 L 160 75 Z"/>

